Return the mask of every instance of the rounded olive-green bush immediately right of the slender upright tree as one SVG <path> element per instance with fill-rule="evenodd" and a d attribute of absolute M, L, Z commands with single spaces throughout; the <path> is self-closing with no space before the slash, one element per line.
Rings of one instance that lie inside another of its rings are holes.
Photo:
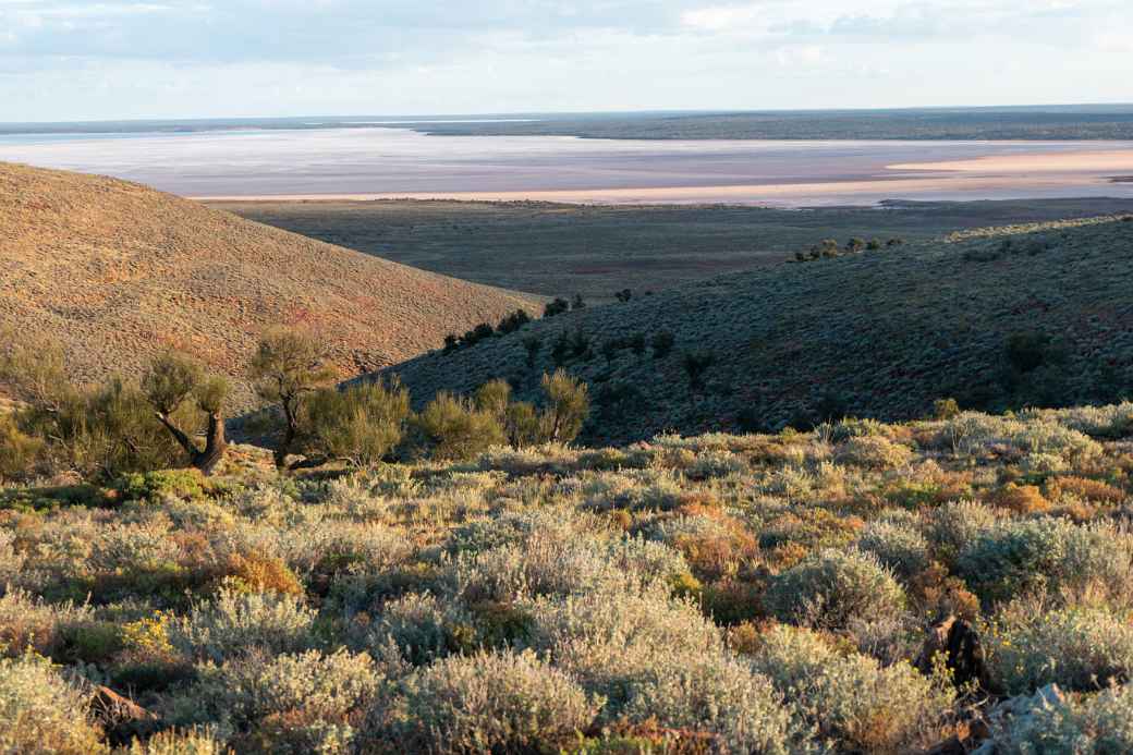
<path fill-rule="evenodd" d="M 356 467 L 381 461 L 401 441 L 409 391 L 398 383 L 358 383 L 314 393 L 307 401 L 307 449 Z"/>

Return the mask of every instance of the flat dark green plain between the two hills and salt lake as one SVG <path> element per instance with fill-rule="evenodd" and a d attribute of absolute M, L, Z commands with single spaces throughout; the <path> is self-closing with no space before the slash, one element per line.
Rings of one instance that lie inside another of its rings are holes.
<path fill-rule="evenodd" d="M 612 302 L 777 265 L 821 238 L 1133 213 L 1133 200 L 889 202 L 877 207 L 579 206 L 535 202 L 216 202 L 241 218 L 461 280 Z"/>

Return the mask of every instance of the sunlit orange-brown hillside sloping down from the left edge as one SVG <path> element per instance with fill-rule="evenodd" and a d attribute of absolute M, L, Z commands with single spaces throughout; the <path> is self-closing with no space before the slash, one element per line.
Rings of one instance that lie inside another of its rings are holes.
<path fill-rule="evenodd" d="M 190 351 L 237 382 L 265 326 L 316 329 L 348 376 L 436 347 L 523 295 L 458 281 L 109 178 L 0 164 L 0 329 L 77 378 Z"/>

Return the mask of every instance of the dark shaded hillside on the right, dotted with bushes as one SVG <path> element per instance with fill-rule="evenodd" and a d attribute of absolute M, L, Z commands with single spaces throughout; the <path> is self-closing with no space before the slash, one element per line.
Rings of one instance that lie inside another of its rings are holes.
<path fill-rule="evenodd" d="M 658 356 L 664 332 L 673 345 Z M 539 343 L 530 366 L 525 340 Z M 1133 222 L 965 231 L 783 263 L 546 319 L 393 372 L 417 400 L 495 376 L 530 398 L 556 362 L 591 383 L 591 441 L 908 418 L 949 396 L 980 408 L 1111 400 L 1133 392 Z"/>

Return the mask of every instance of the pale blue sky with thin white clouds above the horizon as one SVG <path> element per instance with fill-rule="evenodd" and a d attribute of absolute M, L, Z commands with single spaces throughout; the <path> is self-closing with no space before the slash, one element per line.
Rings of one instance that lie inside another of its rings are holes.
<path fill-rule="evenodd" d="M 0 0 L 0 122 L 1130 101 L 1128 0 Z"/>

